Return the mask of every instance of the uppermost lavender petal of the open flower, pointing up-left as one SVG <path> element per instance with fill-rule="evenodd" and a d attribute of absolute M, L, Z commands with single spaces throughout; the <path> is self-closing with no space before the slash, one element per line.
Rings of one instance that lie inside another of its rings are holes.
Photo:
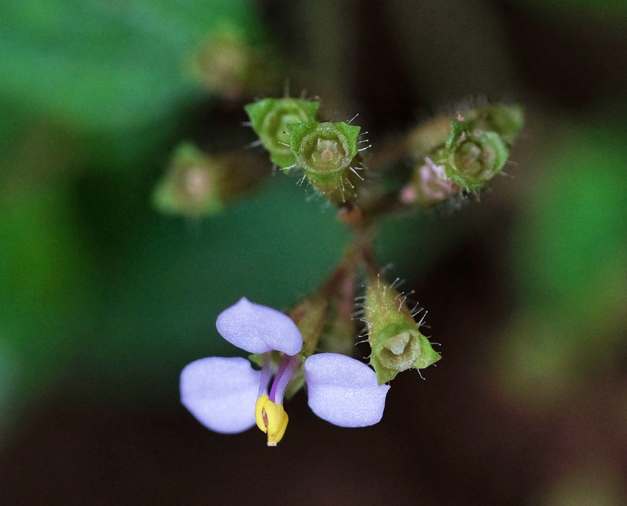
<path fill-rule="evenodd" d="M 289 316 L 246 297 L 218 315 L 216 328 L 229 343 L 248 353 L 276 349 L 295 355 L 303 346 L 303 338 Z"/>

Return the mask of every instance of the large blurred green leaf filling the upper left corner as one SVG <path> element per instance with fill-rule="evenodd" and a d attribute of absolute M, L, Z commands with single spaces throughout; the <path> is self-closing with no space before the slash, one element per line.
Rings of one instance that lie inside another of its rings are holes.
<path fill-rule="evenodd" d="M 224 24 L 254 38 L 249 0 L 6 0 L 0 98 L 89 129 L 159 118 L 195 88 L 186 66 Z"/>

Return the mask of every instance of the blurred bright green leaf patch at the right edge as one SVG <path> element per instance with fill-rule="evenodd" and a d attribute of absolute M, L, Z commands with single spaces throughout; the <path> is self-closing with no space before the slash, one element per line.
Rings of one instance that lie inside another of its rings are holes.
<path fill-rule="evenodd" d="M 544 160 L 515 236 L 531 306 L 599 316 L 627 302 L 626 164 L 624 133 L 603 129 L 569 132 Z"/>

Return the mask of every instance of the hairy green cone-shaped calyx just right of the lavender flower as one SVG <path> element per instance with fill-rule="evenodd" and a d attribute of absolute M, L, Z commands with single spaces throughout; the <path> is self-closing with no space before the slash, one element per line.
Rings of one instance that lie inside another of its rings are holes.
<path fill-rule="evenodd" d="M 369 275 L 364 314 L 372 348 L 370 364 L 379 385 L 401 371 L 423 369 L 440 360 L 440 354 L 421 334 L 403 296 L 379 275 Z"/>

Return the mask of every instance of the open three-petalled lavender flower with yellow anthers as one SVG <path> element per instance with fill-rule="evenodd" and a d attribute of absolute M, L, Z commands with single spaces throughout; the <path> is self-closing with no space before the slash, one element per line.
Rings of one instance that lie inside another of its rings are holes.
<path fill-rule="evenodd" d="M 263 354 L 260 371 L 244 358 L 208 357 L 187 364 L 181 373 L 181 402 L 207 428 L 238 433 L 257 425 L 268 446 L 283 438 L 288 416 L 283 395 L 302 364 L 303 339 L 287 315 L 240 299 L 216 320 L 224 339 L 249 353 Z M 282 358 L 278 368 L 271 353 Z M 366 364 L 337 353 L 320 353 L 304 363 L 308 404 L 314 413 L 341 427 L 374 425 L 383 415 L 388 385 L 378 385 Z M 270 391 L 268 386 L 274 376 Z"/>

